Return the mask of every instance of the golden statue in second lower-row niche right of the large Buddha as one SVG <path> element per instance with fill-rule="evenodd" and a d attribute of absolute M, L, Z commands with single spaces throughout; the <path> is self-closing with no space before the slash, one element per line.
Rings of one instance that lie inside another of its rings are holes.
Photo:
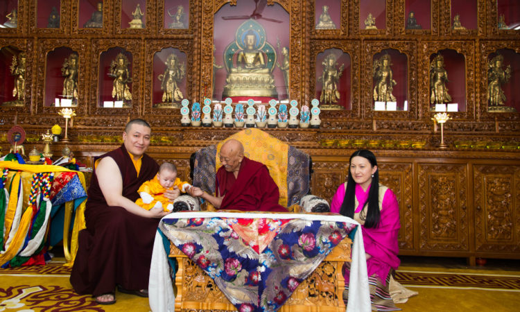
<path fill-rule="evenodd" d="M 374 60 L 374 63 L 372 64 L 372 76 L 376 80 L 374 87 L 374 101 L 396 101 L 392 92 L 397 83 L 393 78 L 394 73 L 390 66 L 392 66 L 392 60 L 388 54 L 381 56 L 379 60 Z"/>

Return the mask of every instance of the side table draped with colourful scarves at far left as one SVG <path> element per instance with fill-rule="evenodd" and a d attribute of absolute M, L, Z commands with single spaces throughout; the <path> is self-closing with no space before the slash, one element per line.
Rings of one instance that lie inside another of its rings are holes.
<path fill-rule="evenodd" d="M 44 264 L 42 248 L 63 239 L 71 264 L 85 224 L 85 177 L 61 166 L 0 162 L 0 266 Z M 69 250 L 69 231 L 74 211 Z"/>

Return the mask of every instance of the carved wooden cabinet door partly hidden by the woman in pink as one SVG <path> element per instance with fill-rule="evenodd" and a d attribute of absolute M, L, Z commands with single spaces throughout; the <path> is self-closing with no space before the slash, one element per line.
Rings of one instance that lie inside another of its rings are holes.
<path fill-rule="evenodd" d="M 379 182 L 392 189 L 399 202 L 399 250 L 413 250 L 413 171 L 412 164 L 379 163 Z"/>

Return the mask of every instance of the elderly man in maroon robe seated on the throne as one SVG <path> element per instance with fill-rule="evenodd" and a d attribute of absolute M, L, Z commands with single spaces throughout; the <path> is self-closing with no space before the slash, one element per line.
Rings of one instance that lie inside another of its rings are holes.
<path fill-rule="evenodd" d="M 261 162 L 244 156 L 240 141 L 230 139 L 220 148 L 222 166 L 216 173 L 215 196 L 191 187 L 191 196 L 201 197 L 218 209 L 241 211 L 285 211 L 278 204 L 278 186 Z"/>

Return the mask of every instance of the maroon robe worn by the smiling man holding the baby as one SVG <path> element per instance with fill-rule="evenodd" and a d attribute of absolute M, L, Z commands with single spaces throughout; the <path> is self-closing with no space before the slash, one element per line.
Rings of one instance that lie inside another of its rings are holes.
<path fill-rule="evenodd" d="M 123 178 L 123 196 L 135 202 L 137 189 L 152 179 L 159 166 L 143 155 L 139 176 L 125 146 L 102 157 L 112 157 Z M 71 284 L 80 295 L 95 297 L 114 292 L 116 285 L 137 291 L 148 289 L 153 241 L 159 218 L 144 218 L 123 207 L 107 205 L 96 171 L 87 191 L 87 228 L 78 236 L 78 253 L 71 272 Z"/>

